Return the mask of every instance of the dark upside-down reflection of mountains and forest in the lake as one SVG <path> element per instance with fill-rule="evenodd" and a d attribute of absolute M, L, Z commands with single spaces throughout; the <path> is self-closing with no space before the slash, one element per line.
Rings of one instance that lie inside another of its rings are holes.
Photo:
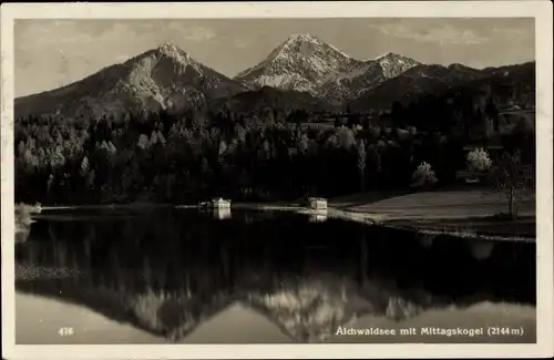
<path fill-rule="evenodd" d="M 173 341 L 237 302 L 299 342 L 331 341 L 339 326 L 367 316 L 398 322 L 452 306 L 534 307 L 534 244 L 422 239 L 325 219 L 45 212 L 17 244 L 17 291 L 84 306 Z"/>

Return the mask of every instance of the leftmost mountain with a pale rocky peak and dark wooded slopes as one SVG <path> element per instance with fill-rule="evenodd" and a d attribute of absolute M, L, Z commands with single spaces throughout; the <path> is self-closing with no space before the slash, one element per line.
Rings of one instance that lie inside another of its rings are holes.
<path fill-rule="evenodd" d="M 126 111 L 203 106 L 247 91 L 244 84 L 163 44 L 70 85 L 16 99 L 17 116 L 51 114 L 76 119 Z"/>

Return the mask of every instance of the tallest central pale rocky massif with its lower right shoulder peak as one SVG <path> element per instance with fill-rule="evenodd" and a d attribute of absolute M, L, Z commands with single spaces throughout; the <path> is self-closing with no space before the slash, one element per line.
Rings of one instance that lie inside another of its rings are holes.
<path fill-rule="evenodd" d="M 417 64 L 412 59 L 392 53 L 375 60 L 357 60 L 319 38 L 296 34 L 235 80 L 258 88 L 304 91 L 340 102 Z"/>

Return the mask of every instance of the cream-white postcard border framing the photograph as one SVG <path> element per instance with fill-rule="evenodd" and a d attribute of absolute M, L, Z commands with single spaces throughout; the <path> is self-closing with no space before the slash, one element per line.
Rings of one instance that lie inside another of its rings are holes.
<path fill-rule="evenodd" d="M 132 344 L 21 346 L 14 331 L 14 19 L 535 18 L 537 152 L 536 344 Z M 2 350 L 6 359 L 266 359 L 547 357 L 554 352 L 552 181 L 552 3 L 550 1 L 379 1 L 243 3 L 3 3 L 1 7 Z"/>

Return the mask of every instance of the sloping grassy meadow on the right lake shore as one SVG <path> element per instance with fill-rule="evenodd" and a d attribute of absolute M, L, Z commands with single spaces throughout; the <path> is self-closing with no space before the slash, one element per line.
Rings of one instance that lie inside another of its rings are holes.
<path fill-rule="evenodd" d="M 335 198 L 329 206 L 352 219 L 372 219 L 394 227 L 417 228 L 434 234 L 533 238 L 535 193 L 526 191 L 517 203 L 519 218 L 499 218 L 507 200 L 503 194 L 484 189 L 434 191 L 422 193 L 381 192 Z"/>

